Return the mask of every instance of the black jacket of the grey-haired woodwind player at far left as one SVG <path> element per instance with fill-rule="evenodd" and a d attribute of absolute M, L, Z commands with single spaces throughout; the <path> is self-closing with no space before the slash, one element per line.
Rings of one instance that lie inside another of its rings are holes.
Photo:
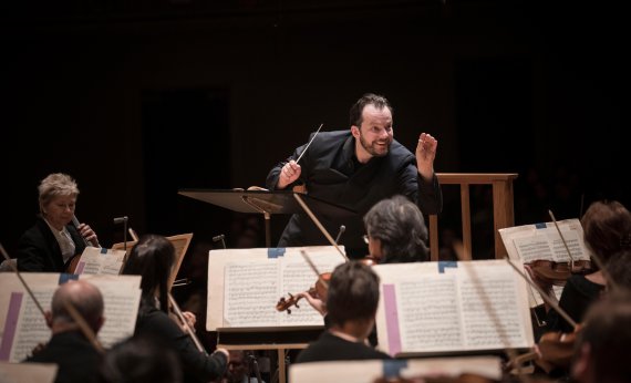
<path fill-rule="evenodd" d="M 74 242 L 74 253 L 82 253 L 85 250 L 83 237 L 74 225 L 66 225 L 65 228 Z M 65 272 L 72 259 L 64 263 L 59 242 L 42 217 L 38 217 L 35 225 L 20 237 L 17 256 L 21 271 Z"/>

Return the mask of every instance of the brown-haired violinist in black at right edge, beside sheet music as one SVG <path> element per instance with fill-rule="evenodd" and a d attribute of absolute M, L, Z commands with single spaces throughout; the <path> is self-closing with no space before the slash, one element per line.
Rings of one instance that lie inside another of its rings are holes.
<path fill-rule="evenodd" d="M 586 246 L 600 263 L 607 266 L 621 250 L 631 248 L 631 213 L 619 201 L 602 200 L 592 203 L 581 218 Z M 551 291 L 551 284 L 532 275 L 532 280 L 544 291 Z M 602 270 L 588 275 L 572 275 L 568 278 L 559 307 L 576 322 L 581 322 L 589 306 L 596 301 L 606 287 Z M 554 294 L 549 294 L 554 297 Z M 546 304 L 547 330 L 570 333 L 573 328 L 555 310 Z"/>

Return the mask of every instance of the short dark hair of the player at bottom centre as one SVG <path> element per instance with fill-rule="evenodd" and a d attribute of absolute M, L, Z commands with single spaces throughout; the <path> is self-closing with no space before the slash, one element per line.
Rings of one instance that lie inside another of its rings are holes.
<path fill-rule="evenodd" d="M 360 261 L 339 265 L 331 275 L 327 294 L 327 311 L 331 323 L 368 320 L 376 313 L 379 276 Z"/>

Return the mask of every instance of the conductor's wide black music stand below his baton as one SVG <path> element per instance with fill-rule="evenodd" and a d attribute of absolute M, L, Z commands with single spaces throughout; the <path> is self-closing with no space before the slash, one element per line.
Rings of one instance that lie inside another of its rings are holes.
<path fill-rule="evenodd" d="M 299 194 L 307 206 L 317 214 L 351 217 L 356 211 L 335 205 L 308 194 L 292 190 L 214 190 L 214 189 L 182 189 L 178 194 L 208 204 L 225 207 L 239 213 L 260 213 L 265 217 L 266 247 L 271 247 L 270 218 L 272 214 L 302 213 L 302 206 L 293 197 Z"/>

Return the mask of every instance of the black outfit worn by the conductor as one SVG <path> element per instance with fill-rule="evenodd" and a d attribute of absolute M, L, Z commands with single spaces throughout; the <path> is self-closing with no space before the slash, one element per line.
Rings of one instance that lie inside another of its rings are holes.
<path fill-rule="evenodd" d="M 313 134 L 312 134 L 313 135 Z M 288 158 L 297 159 L 307 145 L 300 146 Z M 267 188 L 273 190 L 286 162 L 279 163 L 267 176 Z M 345 232 L 340 244 L 352 258 L 363 258 L 368 247 L 363 216 L 384 198 L 401 194 L 416 203 L 424 214 L 438 214 L 443 195 L 438 178 L 423 179 L 416 168 L 416 157 L 399 142 L 393 141 L 383 157 L 373 157 L 361 164 L 355 156 L 355 138 L 349 131 L 320 132 L 300 159 L 301 175 L 307 193 L 319 199 L 348 207 L 354 215 L 342 217 L 314 211 L 324 228 L 334 236 L 341 225 Z M 289 185 L 290 189 L 294 185 Z M 329 245 L 327 238 L 306 213 L 294 214 L 278 247 Z"/>

